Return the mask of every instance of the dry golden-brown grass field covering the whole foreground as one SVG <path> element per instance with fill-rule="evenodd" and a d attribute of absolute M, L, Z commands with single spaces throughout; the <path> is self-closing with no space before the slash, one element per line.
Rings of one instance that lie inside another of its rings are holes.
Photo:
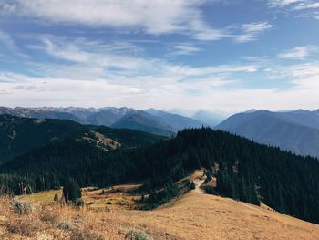
<path fill-rule="evenodd" d="M 47 203 L 47 195 L 54 195 L 47 192 L 42 193 L 46 197 L 36 193 L 41 201 L 28 196 L 36 202 L 35 210 L 20 215 L 9 208 L 9 199 L 2 198 L 0 239 L 125 239 L 131 229 L 142 230 L 152 239 L 319 239 L 319 225 L 276 213 L 264 205 L 258 207 L 202 193 L 202 179 L 197 179 L 200 173 L 193 176 L 198 186 L 195 190 L 153 211 L 129 210 L 118 204 L 107 205 L 103 211 L 62 207 Z M 122 199 L 131 187 L 120 186 L 124 191 L 115 191 L 119 195 L 105 194 L 103 203 L 109 198 Z M 97 191 L 98 194 L 85 192 L 84 199 L 92 201 L 101 196 L 101 190 Z"/>

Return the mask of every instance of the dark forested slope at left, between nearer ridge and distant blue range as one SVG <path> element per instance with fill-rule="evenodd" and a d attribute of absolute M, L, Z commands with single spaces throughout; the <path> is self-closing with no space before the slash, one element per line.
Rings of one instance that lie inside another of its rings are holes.
<path fill-rule="evenodd" d="M 45 146 L 51 142 L 75 138 L 77 134 L 99 132 L 128 147 L 141 146 L 163 139 L 137 130 L 112 130 L 81 125 L 71 120 L 36 120 L 0 115 L 0 163 Z"/>

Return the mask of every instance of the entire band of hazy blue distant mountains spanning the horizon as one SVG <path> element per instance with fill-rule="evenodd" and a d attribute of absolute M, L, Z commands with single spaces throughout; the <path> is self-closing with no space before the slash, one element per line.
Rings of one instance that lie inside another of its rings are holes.
<path fill-rule="evenodd" d="M 180 114 L 178 114 L 180 113 Z M 0 108 L 9 114 L 38 120 L 72 120 L 81 124 L 141 130 L 170 137 L 179 130 L 215 126 L 253 141 L 300 155 L 319 157 L 319 110 L 248 110 L 226 120 L 226 113 L 209 110 L 134 110 L 131 108 Z M 181 114 L 185 115 L 182 116 Z M 223 120 L 223 121 L 222 121 Z M 222 121 L 222 122 L 221 122 Z"/>

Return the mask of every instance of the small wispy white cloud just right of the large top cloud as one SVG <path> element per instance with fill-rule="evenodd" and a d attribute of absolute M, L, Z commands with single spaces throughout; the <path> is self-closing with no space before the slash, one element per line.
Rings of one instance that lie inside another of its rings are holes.
<path fill-rule="evenodd" d="M 271 29 L 273 26 L 268 22 L 251 23 L 242 25 L 242 34 L 235 36 L 237 42 L 249 42 L 256 40 L 256 38 L 263 32 Z"/>

